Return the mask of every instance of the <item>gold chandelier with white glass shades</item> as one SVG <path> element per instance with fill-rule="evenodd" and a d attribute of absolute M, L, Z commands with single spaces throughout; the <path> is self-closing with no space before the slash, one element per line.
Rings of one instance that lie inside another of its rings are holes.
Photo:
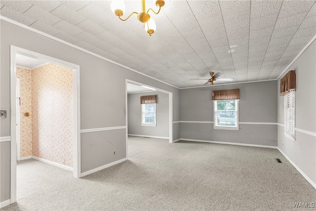
<path fill-rule="evenodd" d="M 155 12 L 152 8 L 149 8 L 146 12 L 145 9 L 145 0 L 142 0 L 142 12 L 132 12 L 126 19 L 122 19 L 122 16 L 125 12 L 125 4 L 123 0 L 113 0 L 111 4 L 111 9 L 118 16 L 118 18 L 122 21 L 127 20 L 132 14 L 137 14 L 137 18 L 140 22 L 143 23 L 143 27 L 145 31 L 152 36 L 152 34 L 156 31 L 156 23 L 153 19 L 150 18 L 148 14 L 149 10 L 152 10 L 155 14 L 160 12 L 160 8 L 164 5 L 164 0 L 157 0 L 156 5 L 159 7 L 158 12 Z"/>

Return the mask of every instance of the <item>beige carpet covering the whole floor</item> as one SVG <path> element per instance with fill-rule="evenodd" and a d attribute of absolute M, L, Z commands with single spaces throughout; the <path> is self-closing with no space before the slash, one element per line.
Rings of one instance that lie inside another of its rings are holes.
<path fill-rule="evenodd" d="M 18 201 L 1 211 L 315 209 L 294 208 L 312 207 L 316 190 L 276 149 L 129 137 L 128 153 L 128 161 L 80 179 L 18 162 Z"/>

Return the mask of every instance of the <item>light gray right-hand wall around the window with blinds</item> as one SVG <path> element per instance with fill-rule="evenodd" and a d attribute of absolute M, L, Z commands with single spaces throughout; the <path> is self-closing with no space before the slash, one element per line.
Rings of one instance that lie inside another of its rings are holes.
<path fill-rule="evenodd" d="M 287 69 L 296 70 L 295 128 L 316 132 L 316 41 Z M 277 82 L 278 88 L 280 80 Z M 284 125 L 284 97 L 277 94 L 277 122 Z M 284 127 L 277 127 L 278 148 L 314 183 L 316 183 L 316 137 L 295 131 L 296 140 L 285 137 Z"/>

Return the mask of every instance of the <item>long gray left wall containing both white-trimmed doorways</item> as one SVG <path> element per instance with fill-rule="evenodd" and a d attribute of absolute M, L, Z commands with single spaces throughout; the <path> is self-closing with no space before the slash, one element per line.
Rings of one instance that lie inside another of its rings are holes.
<path fill-rule="evenodd" d="M 180 90 L 146 76 L 127 70 L 76 48 L 41 36 L 14 24 L 0 20 L 0 107 L 10 114 L 10 45 L 32 50 L 65 60 L 80 66 L 80 115 L 81 129 L 125 126 L 125 79 L 151 84 L 173 93 L 173 121 L 179 121 Z M 9 115 L 8 115 L 9 116 Z M 10 118 L 1 119 L 0 136 L 10 136 Z M 174 131 L 176 135 L 180 131 Z M 109 140 L 109 133 L 113 134 Z M 116 132 L 81 133 L 81 172 L 104 166 L 126 157 L 125 129 Z M 15 141 L 15 140 L 12 140 Z M 104 141 L 104 142 L 102 142 Z M 1 144 L 2 145 L 2 144 Z M 96 148 L 100 146 L 101 149 Z M 117 156 L 104 156 L 105 150 Z M 121 156 L 122 153 L 122 156 Z M 2 155 L 2 154 L 1 154 Z M 3 158 L 9 161 L 9 154 Z M 2 160 L 2 158 L 1 158 Z M 1 162 L 7 169 L 9 162 Z M 9 183 L 9 171 L 1 175 L 0 182 Z M 1 189 L 2 191 L 2 189 Z M 8 192 L 1 193 L 0 201 L 6 200 Z"/>

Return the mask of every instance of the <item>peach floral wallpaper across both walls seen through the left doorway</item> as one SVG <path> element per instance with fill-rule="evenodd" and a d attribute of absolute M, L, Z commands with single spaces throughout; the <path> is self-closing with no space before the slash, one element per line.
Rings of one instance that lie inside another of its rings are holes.
<path fill-rule="evenodd" d="M 47 64 L 17 68 L 21 97 L 21 158 L 36 156 L 73 167 L 72 69 Z M 30 117 L 23 113 L 29 112 Z"/>

